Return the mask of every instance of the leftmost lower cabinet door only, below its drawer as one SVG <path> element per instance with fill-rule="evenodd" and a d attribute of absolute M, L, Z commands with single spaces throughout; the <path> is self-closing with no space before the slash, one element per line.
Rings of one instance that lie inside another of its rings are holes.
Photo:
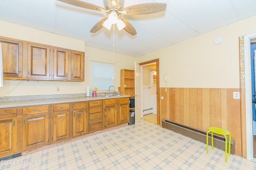
<path fill-rule="evenodd" d="M 15 152 L 17 152 L 17 118 L 0 119 L 0 157 Z"/>

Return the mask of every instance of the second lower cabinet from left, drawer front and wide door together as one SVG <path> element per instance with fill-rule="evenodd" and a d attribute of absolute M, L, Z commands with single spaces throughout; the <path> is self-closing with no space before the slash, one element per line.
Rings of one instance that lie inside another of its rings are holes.
<path fill-rule="evenodd" d="M 22 108 L 22 150 L 49 144 L 49 111 L 49 105 Z"/>

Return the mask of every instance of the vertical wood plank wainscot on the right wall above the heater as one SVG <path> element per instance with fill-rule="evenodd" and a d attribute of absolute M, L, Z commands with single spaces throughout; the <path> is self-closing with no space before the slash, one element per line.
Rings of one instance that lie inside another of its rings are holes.
<path fill-rule="evenodd" d="M 240 89 L 160 88 L 160 120 L 169 119 L 197 129 L 220 127 L 230 131 L 235 153 L 242 156 L 240 99 L 233 98 Z M 162 124 L 162 121 L 160 121 Z"/>

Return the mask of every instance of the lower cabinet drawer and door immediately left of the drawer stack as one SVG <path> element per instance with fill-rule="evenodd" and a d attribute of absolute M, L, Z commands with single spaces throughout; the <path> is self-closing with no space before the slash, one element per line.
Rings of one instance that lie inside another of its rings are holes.
<path fill-rule="evenodd" d="M 73 137 L 87 133 L 87 102 L 73 104 Z"/>

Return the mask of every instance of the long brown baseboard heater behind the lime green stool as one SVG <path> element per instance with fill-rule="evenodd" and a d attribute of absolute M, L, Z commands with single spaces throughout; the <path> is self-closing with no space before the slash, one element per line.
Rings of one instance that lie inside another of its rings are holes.
<path fill-rule="evenodd" d="M 177 133 L 180 133 L 192 139 L 196 139 L 200 142 L 206 143 L 206 133 L 207 133 L 206 131 L 196 129 L 190 126 L 182 125 L 180 123 L 176 123 L 174 121 L 170 121 L 167 119 L 162 119 L 162 127 L 166 129 L 170 129 L 172 131 L 175 131 Z M 225 150 L 225 137 L 221 135 L 213 134 L 213 144 L 214 144 L 213 145 L 214 147 Z M 208 145 L 210 146 L 212 145 L 212 136 L 210 132 L 208 134 Z M 209 148 L 211 149 L 210 146 Z M 235 154 L 234 139 L 231 139 L 230 154 Z"/>

